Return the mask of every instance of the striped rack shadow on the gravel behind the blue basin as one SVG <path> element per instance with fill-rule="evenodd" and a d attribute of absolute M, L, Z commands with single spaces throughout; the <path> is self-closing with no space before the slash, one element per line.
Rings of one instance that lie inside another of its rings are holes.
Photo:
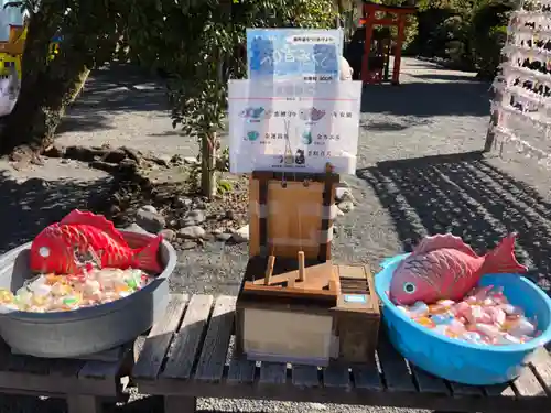
<path fill-rule="evenodd" d="M 406 251 L 425 235 L 452 232 L 478 253 L 517 232 L 517 257 L 550 292 L 551 205 L 479 152 L 388 161 L 358 171 L 392 217 Z"/>

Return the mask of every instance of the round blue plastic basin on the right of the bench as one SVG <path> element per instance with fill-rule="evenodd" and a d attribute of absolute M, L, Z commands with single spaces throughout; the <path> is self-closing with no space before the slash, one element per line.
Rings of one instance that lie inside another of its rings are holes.
<path fill-rule="evenodd" d="M 388 296 L 392 274 L 409 254 L 386 260 L 375 276 L 383 306 L 383 323 L 392 345 L 417 367 L 443 379 L 472 385 L 500 384 L 516 379 L 530 355 L 551 340 L 551 298 L 518 274 L 487 274 L 479 285 L 496 285 L 514 305 L 536 317 L 542 334 L 533 340 L 510 346 L 480 346 L 447 338 L 412 322 Z"/>

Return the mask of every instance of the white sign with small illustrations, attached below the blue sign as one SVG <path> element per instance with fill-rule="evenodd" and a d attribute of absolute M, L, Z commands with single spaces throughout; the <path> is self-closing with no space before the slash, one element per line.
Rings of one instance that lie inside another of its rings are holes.
<path fill-rule="evenodd" d="M 230 172 L 356 173 L 361 81 L 229 81 Z"/>

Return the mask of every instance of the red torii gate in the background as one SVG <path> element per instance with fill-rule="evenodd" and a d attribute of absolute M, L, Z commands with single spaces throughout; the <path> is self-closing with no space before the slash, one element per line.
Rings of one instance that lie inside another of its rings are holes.
<path fill-rule="evenodd" d="M 383 13 L 385 18 L 377 18 Z M 369 54 L 371 52 L 371 42 L 374 36 L 374 26 L 397 26 L 398 35 L 396 37 L 395 47 L 395 64 L 392 66 L 392 85 L 400 84 L 400 63 L 402 55 L 402 43 L 406 30 L 406 18 L 408 14 L 417 12 L 414 7 L 385 6 L 364 1 L 363 4 L 363 21 L 366 28 L 366 43 L 364 45 L 364 56 L 361 62 L 361 80 L 364 84 L 381 83 L 382 76 L 371 76 L 369 70 Z M 391 47 L 387 47 L 385 53 L 390 54 Z M 387 56 L 388 57 L 388 56 Z"/>

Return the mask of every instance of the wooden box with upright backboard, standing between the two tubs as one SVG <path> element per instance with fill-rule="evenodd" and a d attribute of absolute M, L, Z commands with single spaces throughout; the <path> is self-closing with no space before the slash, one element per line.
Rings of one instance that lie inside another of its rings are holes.
<path fill-rule="evenodd" d="M 331 261 L 338 180 L 252 174 L 250 259 L 236 305 L 237 349 L 251 360 L 326 366 L 375 354 L 379 309 L 367 272 L 353 274 L 357 285 L 344 294 L 350 271 Z M 376 322 L 375 333 L 366 318 Z"/>

